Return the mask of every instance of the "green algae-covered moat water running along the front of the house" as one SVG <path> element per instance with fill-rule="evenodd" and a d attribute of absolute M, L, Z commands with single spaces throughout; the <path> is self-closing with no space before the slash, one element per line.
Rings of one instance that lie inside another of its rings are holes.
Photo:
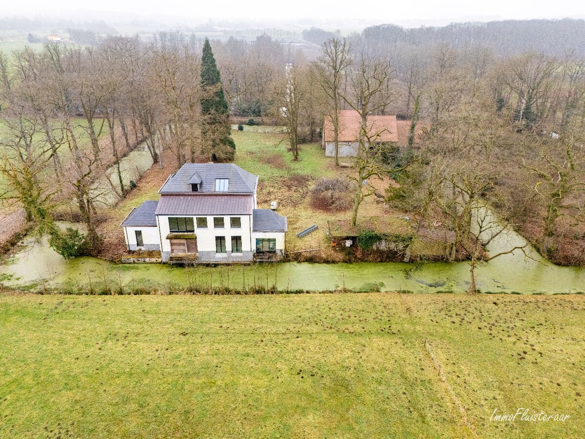
<path fill-rule="evenodd" d="M 522 245 L 524 239 L 508 231 L 491 242 L 491 254 Z M 585 269 L 553 265 L 528 247 L 522 251 L 483 263 L 476 270 L 482 291 L 519 293 L 576 293 L 585 291 Z M 170 267 L 163 264 L 116 265 L 97 258 L 65 260 L 47 245 L 46 239 L 27 238 L 20 251 L 0 266 L 0 282 L 9 286 L 35 284 L 65 290 L 127 290 L 144 286 L 161 290 L 182 290 L 189 284 L 229 286 L 234 289 L 254 284 L 280 290 L 409 290 L 420 293 L 463 292 L 469 286 L 466 262 L 428 263 L 277 263 L 246 266 Z"/>

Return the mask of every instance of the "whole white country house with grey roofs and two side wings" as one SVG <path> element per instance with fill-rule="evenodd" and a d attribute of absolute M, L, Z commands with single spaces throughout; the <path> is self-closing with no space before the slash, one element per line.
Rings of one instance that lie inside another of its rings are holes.
<path fill-rule="evenodd" d="M 187 163 L 168 177 L 159 201 L 122 222 L 129 251 L 160 251 L 163 262 L 246 262 L 284 255 L 287 218 L 258 209 L 258 176 L 232 163 Z"/>

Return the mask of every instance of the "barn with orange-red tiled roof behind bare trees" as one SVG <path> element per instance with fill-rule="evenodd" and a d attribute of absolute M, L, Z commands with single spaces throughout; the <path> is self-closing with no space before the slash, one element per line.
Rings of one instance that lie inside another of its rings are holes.
<path fill-rule="evenodd" d="M 395 115 L 367 116 L 367 135 L 375 142 L 397 143 L 407 145 L 408 134 L 412 121 L 397 120 Z M 360 126 L 362 118 L 354 110 L 339 112 L 339 157 L 355 157 L 359 147 Z M 417 125 L 416 135 L 421 134 L 421 125 Z M 323 125 L 322 147 L 326 157 L 335 157 L 335 131 L 331 117 L 325 116 Z"/>

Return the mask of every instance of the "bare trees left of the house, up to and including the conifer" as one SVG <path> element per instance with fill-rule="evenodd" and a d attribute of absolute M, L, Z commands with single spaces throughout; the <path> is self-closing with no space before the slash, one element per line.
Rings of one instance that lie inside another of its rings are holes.
<path fill-rule="evenodd" d="M 46 44 L 40 53 L 0 54 L 0 80 L 7 183 L 0 195 L 22 205 L 41 233 L 54 229 L 56 205 L 73 199 L 89 247 L 98 248 L 97 180 L 113 164 L 117 184 L 106 189 L 123 197 L 121 159 L 142 141 L 161 166 L 163 149 L 173 166 L 233 159 L 228 105 L 207 40 L 201 47 L 163 34 L 150 44 Z"/>

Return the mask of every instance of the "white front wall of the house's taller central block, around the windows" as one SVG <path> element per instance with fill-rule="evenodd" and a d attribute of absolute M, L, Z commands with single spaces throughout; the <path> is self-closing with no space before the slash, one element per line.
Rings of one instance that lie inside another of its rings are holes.
<path fill-rule="evenodd" d="M 207 228 L 197 227 L 197 218 L 205 216 L 207 218 Z M 215 252 L 215 236 L 225 236 L 226 251 L 232 251 L 232 236 L 242 236 L 242 252 L 252 251 L 252 240 L 250 238 L 250 221 L 252 215 L 157 215 L 159 221 L 160 238 L 162 241 L 163 252 L 171 251 L 171 243 L 166 239 L 170 233 L 168 227 L 168 218 L 170 217 L 187 217 L 193 218 L 195 224 L 195 235 L 197 235 L 197 251 Z M 214 227 L 214 217 L 223 217 L 223 228 Z M 230 227 L 230 217 L 239 217 L 242 222 L 241 228 Z M 255 245 L 255 241 L 254 241 Z"/>

